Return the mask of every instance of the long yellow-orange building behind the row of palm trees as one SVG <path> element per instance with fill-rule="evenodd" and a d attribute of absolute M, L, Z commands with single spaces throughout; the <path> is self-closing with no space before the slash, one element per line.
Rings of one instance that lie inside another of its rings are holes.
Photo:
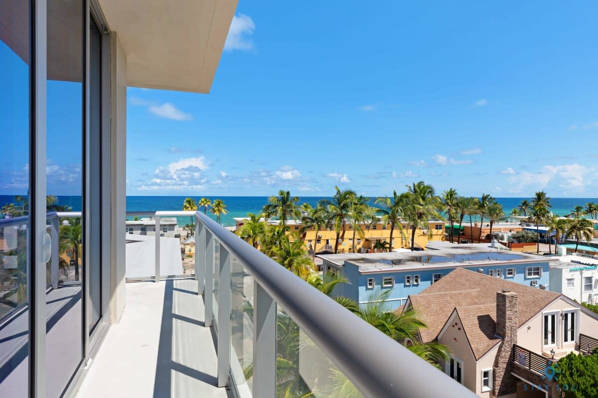
<path fill-rule="evenodd" d="M 236 221 L 237 229 L 239 229 L 248 218 L 234 218 L 234 220 Z M 270 220 L 268 223 L 277 225 L 278 221 Z M 312 250 L 315 247 L 316 253 L 322 251 L 334 251 L 334 242 L 336 239 L 334 228 L 328 227 L 325 230 L 318 230 L 318 237 L 316 238 L 316 229 L 310 227 L 307 230 L 302 230 L 301 221 L 289 220 L 287 225 L 290 229 L 289 233 L 303 233 L 301 237 L 309 250 Z M 425 248 L 426 245 L 428 245 L 429 240 L 444 240 L 444 221 L 429 221 L 429 226 L 432 232 L 431 239 L 428 239 L 427 230 L 416 229 L 414 239 L 416 248 Z M 364 223 L 360 224 L 360 227 L 364 232 L 363 237 L 360 237 L 359 233 L 355 232 L 352 225 L 347 223 L 344 239 L 341 236 L 338 242 L 338 252 L 353 252 L 353 246 L 355 246 L 355 252 L 368 252 L 374 250 L 374 245 L 376 245 L 376 242 L 378 241 L 390 243 L 390 224 L 380 222 L 370 225 Z M 403 239 L 399 227 L 395 227 L 392 234 L 393 249 L 411 247 L 411 229 L 405 222 L 402 223 L 402 229 L 405 234 L 405 239 Z"/>

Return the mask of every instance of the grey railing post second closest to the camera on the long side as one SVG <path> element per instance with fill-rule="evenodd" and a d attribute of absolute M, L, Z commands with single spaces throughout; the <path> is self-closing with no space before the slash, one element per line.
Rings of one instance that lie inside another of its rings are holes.
<path fill-rule="evenodd" d="M 220 245 L 218 275 L 218 387 L 228 384 L 230 374 L 230 253 Z"/>

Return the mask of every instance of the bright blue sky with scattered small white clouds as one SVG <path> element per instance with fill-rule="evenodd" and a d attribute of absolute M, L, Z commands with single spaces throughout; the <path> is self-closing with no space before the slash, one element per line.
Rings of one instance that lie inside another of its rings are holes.
<path fill-rule="evenodd" d="M 596 15 L 242 0 L 210 94 L 129 88 L 127 194 L 596 197 Z"/>

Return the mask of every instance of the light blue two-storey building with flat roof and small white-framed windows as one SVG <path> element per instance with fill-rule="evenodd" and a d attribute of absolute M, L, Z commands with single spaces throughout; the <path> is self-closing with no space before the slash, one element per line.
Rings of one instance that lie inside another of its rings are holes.
<path fill-rule="evenodd" d="M 324 272 L 343 274 L 349 283 L 337 285 L 334 296 L 368 303 L 389 289 L 392 309 L 405 303 L 457 267 L 478 271 L 536 288 L 548 288 L 549 263 L 556 261 L 534 254 L 510 252 L 489 245 L 453 245 L 427 251 L 395 251 L 374 254 L 328 254 L 322 258 Z"/>

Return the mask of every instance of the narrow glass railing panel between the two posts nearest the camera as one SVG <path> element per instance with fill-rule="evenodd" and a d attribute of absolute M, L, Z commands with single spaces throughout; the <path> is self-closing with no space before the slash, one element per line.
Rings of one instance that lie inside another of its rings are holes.
<path fill-rule="evenodd" d="M 231 257 L 231 374 L 242 398 L 251 397 L 254 337 L 254 279 Z"/>

